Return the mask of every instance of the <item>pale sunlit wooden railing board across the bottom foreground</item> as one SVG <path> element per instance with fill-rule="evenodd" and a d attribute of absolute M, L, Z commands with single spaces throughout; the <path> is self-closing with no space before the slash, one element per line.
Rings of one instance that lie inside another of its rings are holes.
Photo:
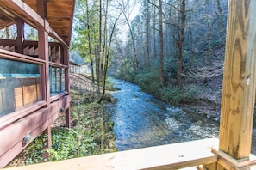
<path fill-rule="evenodd" d="M 217 161 L 216 155 L 211 152 L 212 147 L 218 147 L 218 139 L 203 139 L 105 155 L 93 155 L 66 161 L 13 167 L 9 170 L 178 169 Z"/>

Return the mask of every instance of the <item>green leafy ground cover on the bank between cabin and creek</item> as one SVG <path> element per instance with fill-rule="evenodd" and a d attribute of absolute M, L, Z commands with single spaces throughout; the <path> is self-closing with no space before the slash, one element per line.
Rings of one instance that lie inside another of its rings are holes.
<path fill-rule="evenodd" d="M 116 151 L 114 124 L 103 111 L 103 105 L 94 95 L 71 90 L 72 129 L 52 129 L 52 148 L 42 149 L 41 137 L 30 143 L 9 167 L 42 162 L 42 153 L 49 152 L 51 161 L 61 161 L 81 156 Z"/>

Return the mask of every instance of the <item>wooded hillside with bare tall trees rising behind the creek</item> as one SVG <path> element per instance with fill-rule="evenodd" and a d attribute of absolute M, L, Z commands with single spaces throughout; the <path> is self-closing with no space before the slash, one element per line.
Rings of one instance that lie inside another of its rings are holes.
<path fill-rule="evenodd" d="M 78 0 L 72 59 L 103 94 L 116 76 L 219 121 L 227 14 L 226 0 Z"/>

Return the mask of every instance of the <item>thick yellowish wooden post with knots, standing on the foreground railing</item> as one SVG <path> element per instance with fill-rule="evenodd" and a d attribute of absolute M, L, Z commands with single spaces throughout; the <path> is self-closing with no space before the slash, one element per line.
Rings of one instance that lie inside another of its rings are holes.
<path fill-rule="evenodd" d="M 229 0 L 220 143 L 215 152 L 221 160 L 225 157 L 223 162 L 231 167 L 252 162 L 249 157 L 256 87 L 255 16 L 256 1 Z"/>

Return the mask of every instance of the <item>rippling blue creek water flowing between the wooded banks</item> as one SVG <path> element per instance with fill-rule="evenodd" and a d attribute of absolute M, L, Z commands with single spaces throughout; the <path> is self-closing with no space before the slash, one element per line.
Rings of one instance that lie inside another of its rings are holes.
<path fill-rule="evenodd" d="M 117 103 L 109 113 L 118 150 L 218 137 L 219 127 L 209 119 L 156 100 L 134 84 L 110 81 L 120 89 L 113 94 Z"/>

